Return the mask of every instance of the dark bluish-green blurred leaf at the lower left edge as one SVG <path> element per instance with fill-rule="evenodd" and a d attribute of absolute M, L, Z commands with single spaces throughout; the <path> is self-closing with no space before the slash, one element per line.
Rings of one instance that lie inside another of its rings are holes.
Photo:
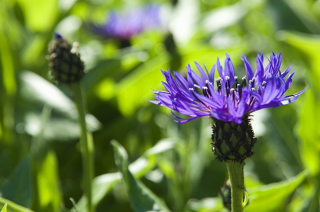
<path fill-rule="evenodd" d="M 18 164 L 2 186 L 1 197 L 11 200 L 21 206 L 30 207 L 33 197 L 31 184 L 31 163 L 27 156 Z"/>

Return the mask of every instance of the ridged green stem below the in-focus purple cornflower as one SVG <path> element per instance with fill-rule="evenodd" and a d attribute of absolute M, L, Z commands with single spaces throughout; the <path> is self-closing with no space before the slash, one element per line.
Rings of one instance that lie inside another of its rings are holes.
<path fill-rule="evenodd" d="M 227 168 L 231 185 L 231 212 L 243 212 L 244 162 L 228 161 Z"/>

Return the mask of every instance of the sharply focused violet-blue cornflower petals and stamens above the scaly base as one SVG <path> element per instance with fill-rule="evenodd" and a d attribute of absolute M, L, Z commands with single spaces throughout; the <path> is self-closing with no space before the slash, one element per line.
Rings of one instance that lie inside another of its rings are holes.
<path fill-rule="evenodd" d="M 161 70 L 167 83 L 162 82 L 167 91 L 154 91 L 157 105 L 166 106 L 181 114 L 191 116 L 183 119 L 172 115 L 185 123 L 201 116 L 210 116 L 220 121 L 232 121 L 242 123 L 244 115 L 267 107 L 286 105 L 295 101 L 308 86 L 293 95 L 284 96 L 292 83 L 292 74 L 289 74 L 289 66 L 281 73 L 280 65 L 282 53 L 270 56 L 269 64 L 263 67 L 263 55 L 257 54 L 257 69 L 253 73 L 252 67 L 243 54 L 246 76 L 238 79 L 228 54 L 225 60 L 225 67 L 222 69 L 219 58 L 212 66 L 210 73 L 197 63 L 196 67 L 200 76 L 187 66 L 187 79 L 174 71 L 174 78 L 171 71 Z M 214 78 L 217 68 L 219 77 Z M 289 74 L 287 80 L 284 78 Z M 216 86 L 214 85 L 216 84 Z"/>

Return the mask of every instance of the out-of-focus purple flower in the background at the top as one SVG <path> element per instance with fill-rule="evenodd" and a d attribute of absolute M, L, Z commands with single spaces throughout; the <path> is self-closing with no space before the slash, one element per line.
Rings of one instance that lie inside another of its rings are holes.
<path fill-rule="evenodd" d="M 133 35 L 160 25 L 160 8 L 149 4 L 143 8 L 133 8 L 122 13 L 111 12 L 102 26 L 93 25 L 95 33 L 105 37 L 130 40 Z"/>

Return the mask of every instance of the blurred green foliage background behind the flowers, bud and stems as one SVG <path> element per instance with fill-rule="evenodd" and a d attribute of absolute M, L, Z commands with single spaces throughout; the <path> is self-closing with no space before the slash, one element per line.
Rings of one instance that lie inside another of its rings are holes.
<path fill-rule="evenodd" d="M 271 51 L 283 52 L 282 71 L 293 64 L 288 95 L 310 87 L 290 105 L 255 113 L 259 141 L 246 160 L 246 211 L 320 211 L 320 1 L 153 1 L 162 25 L 122 49 L 88 27 L 112 10 L 148 3 L 0 1 L 0 203 L 9 211 L 69 211 L 72 197 L 85 211 L 75 106 L 67 87 L 50 80 L 45 59 L 57 31 L 79 42 L 89 70 L 83 84 L 97 211 L 132 211 L 129 200 L 139 197 L 121 181 L 111 140 L 124 146 L 130 171 L 171 211 L 226 211 L 218 193 L 227 169 L 213 160 L 210 120 L 175 123 L 170 110 L 148 102 L 150 88 L 164 89 L 160 68 L 185 73 L 188 63 L 195 69 L 193 61 L 211 68 L 225 52 L 242 77 L 238 56 L 246 54 L 255 67 L 256 52 Z"/>

